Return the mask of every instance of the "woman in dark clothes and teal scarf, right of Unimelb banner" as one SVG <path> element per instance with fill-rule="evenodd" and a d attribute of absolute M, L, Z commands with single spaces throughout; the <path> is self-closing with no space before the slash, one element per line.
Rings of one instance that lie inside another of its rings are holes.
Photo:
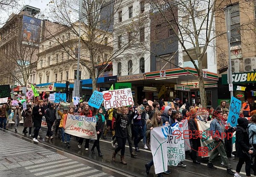
<path fill-rule="evenodd" d="M 93 154 L 95 154 L 94 148 L 96 147 L 99 157 L 103 157 L 103 154 L 100 152 L 100 149 L 99 149 L 99 138 L 101 137 L 102 131 L 103 131 L 104 126 L 105 126 L 105 117 L 103 115 L 102 108 L 99 108 L 99 110 L 96 114 L 96 120 L 97 120 L 97 123 L 96 123 L 97 139 L 93 143 L 93 147 L 91 149 L 91 152 Z"/>

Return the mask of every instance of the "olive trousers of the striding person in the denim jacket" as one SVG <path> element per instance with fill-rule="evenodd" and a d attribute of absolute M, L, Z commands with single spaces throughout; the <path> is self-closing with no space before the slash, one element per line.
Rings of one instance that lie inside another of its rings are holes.
<path fill-rule="evenodd" d="M 224 166 L 228 169 L 230 168 L 230 163 L 228 162 L 227 159 L 227 154 L 225 151 L 225 143 L 223 140 L 221 141 L 213 141 L 214 144 L 214 150 L 212 151 L 212 154 L 209 157 L 209 163 L 213 163 L 213 160 L 215 157 L 217 157 L 219 154 L 221 155 L 221 160 L 224 163 Z"/>

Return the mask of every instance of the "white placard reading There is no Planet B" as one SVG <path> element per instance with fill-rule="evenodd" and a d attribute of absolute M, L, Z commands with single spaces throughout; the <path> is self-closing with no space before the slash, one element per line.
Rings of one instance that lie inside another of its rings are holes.
<path fill-rule="evenodd" d="M 103 91 L 104 107 L 123 107 L 134 105 L 131 88 Z"/>

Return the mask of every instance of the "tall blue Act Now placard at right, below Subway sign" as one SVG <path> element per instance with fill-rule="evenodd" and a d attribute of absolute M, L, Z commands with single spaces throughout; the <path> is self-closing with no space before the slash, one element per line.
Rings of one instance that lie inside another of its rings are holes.
<path fill-rule="evenodd" d="M 230 123 L 231 126 L 237 125 L 237 119 L 239 118 L 241 104 L 242 102 L 239 99 L 232 96 L 228 118 L 227 118 L 227 123 Z"/>

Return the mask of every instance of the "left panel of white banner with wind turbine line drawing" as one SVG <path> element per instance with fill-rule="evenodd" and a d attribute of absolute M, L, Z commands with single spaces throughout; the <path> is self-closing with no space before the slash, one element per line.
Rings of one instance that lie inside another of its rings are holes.
<path fill-rule="evenodd" d="M 162 173 L 168 170 L 168 157 L 166 156 L 167 152 L 167 140 L 166 136 L 163 134 L 162 130 L 166 129 L 166 126 L 159 126 L 153 128 L 150 132 L 150 146 L 151 153 L 153 155 L 153 161 L 155 173 Z"/>

